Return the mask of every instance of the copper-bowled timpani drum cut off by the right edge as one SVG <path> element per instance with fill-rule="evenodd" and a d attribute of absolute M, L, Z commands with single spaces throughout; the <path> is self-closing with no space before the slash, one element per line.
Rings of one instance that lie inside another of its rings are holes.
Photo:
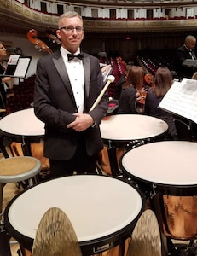
<path fill-rule="evenodd" d="M 165 236 L 197 238 L 197 143 L 164 141 L 125 153 L 121 166 L 145 194 Z"/>

